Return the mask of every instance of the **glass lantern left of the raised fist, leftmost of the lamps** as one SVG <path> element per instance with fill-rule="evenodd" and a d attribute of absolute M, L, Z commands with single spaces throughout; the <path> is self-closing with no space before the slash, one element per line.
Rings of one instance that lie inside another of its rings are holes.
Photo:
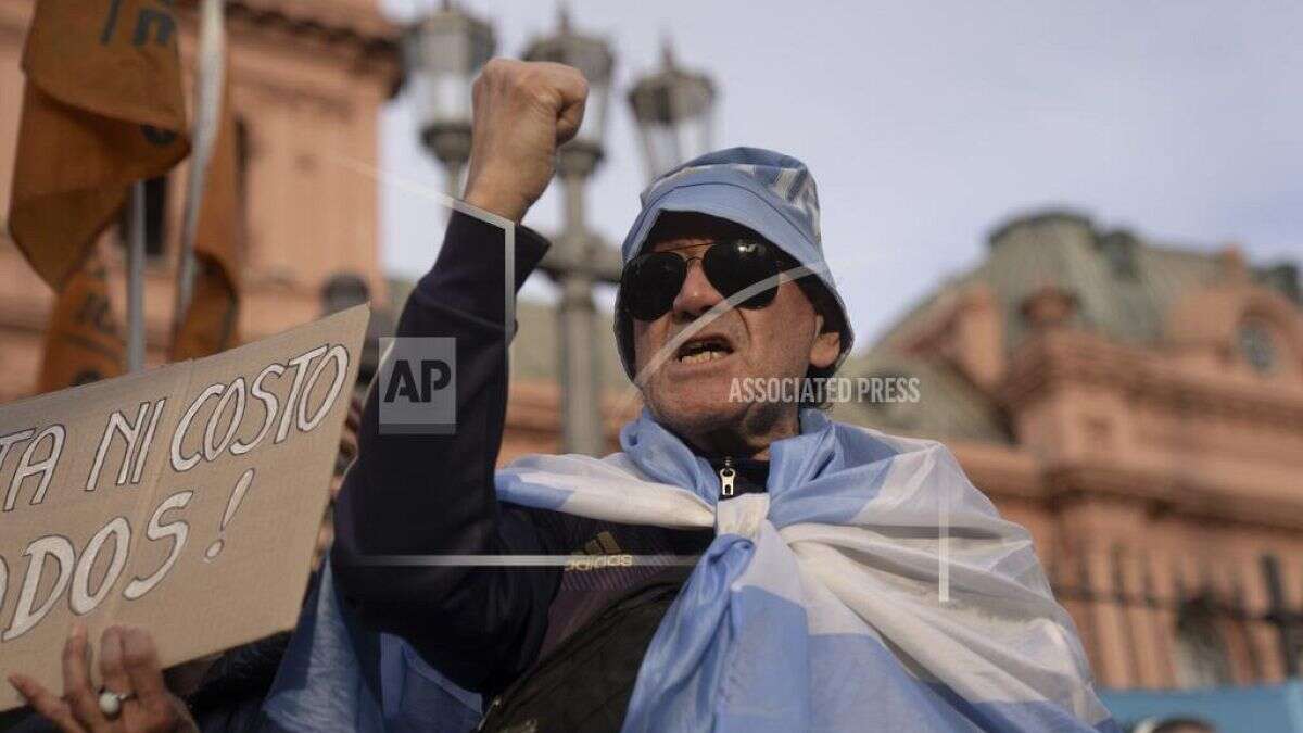
<path fill-rule="evenodd" d="M 470 87 L 498 50 L 493 26 L 452 0 L 413 22 L 403 35 L 403 59 L 416 100 L 421 142 L 444 166 L 447 193 L 456 198 L 470 159 Z"/>

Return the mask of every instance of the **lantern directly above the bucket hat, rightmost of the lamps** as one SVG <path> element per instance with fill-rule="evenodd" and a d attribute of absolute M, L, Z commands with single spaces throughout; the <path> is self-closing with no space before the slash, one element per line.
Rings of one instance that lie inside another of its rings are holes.
<path fill-rule="evenodd" d="M 715 89 L 705 74 L 680 69 L 670 42 L 662 48 L 661 70 L 629 90 L 629 106 L 638 121 L 648 183 L 710 151 Z"/>

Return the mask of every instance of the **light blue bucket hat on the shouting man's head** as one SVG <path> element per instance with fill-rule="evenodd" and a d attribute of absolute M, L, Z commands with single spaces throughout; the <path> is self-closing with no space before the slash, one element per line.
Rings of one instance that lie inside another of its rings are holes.
<path fill-rule="evenodd" d="M 620 254 L 624 263 L 641 253 L 662 211 L 694 211 L 753 230 L 816 273 L 840 316 L 842 353 L 855 334 L 846 304 L 823 258 L 818 226 L 818 190 L 805 163 L 761 147 L 730 147 L 693 158 L 652 183 L 640 197 L 642 211 L 629 228 Z M 624 372 L 633 378 L 629 316 L 618 307 L 615 342 Z"/>

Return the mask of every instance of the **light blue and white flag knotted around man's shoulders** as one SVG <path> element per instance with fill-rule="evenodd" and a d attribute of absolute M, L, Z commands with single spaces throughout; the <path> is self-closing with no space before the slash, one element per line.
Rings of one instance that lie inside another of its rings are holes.
<path fill-rule="evenodd" d="M 705 459 L 644 412 L 606 458 L 532 455 L 499 501 L 714 527 L 661 621 L 623 730 L 1117 732 L 1025 530 L 933 441 L 801 412 L 766 493 L 718 501 Z M 326 586 L 265 711 L 289 730 L 469 730 L 478 700 Z M 319 711 L 330 711 L 321 715 Z"/>

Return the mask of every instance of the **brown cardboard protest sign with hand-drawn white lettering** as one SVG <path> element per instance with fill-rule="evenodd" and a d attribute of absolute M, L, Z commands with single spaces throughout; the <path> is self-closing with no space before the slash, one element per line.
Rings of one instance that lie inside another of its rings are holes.
<path fill-rule="evenodd" d="M 63 690 L 74 620 L 164 665 L 293 627 L 369 314 L 0 407 L 0 680 Z"/>

